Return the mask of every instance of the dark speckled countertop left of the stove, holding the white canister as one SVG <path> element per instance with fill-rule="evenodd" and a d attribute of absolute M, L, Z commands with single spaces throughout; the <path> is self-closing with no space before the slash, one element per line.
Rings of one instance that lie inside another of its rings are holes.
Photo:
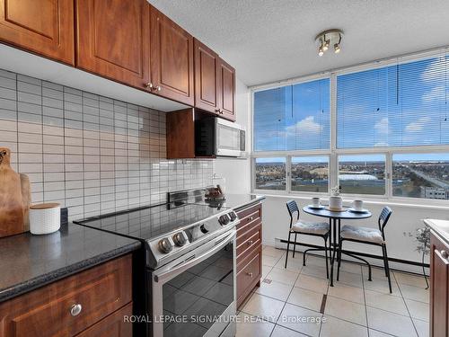
<path fill-rule="evenodd" d="M 0 239 L 0 302 L 141 246 L 139 241 L 72 223 L 49 235 Z"/>

